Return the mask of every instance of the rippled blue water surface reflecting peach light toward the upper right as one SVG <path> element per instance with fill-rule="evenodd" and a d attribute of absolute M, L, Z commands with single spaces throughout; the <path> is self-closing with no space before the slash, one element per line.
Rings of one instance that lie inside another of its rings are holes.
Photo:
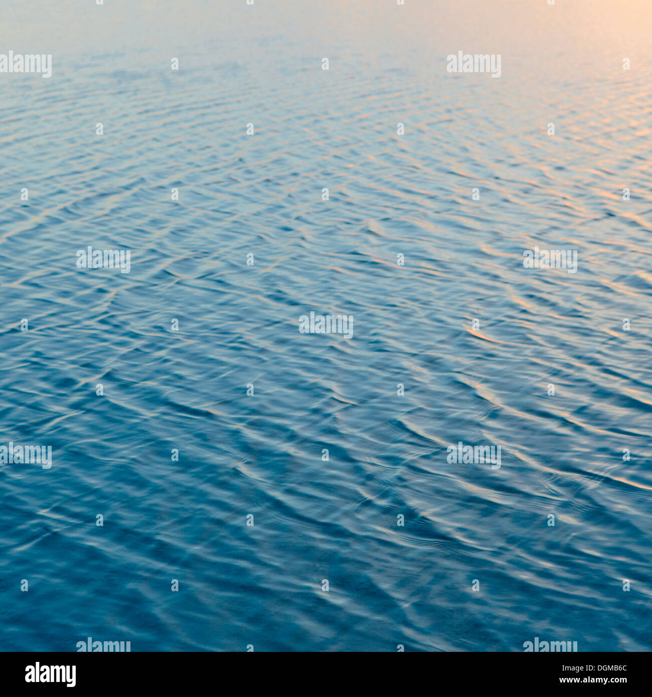
<path fill-rule="evenodd" d="M 651 650 L 650 22 L 256 2 L 9 3 L 0 648 Z"/>

